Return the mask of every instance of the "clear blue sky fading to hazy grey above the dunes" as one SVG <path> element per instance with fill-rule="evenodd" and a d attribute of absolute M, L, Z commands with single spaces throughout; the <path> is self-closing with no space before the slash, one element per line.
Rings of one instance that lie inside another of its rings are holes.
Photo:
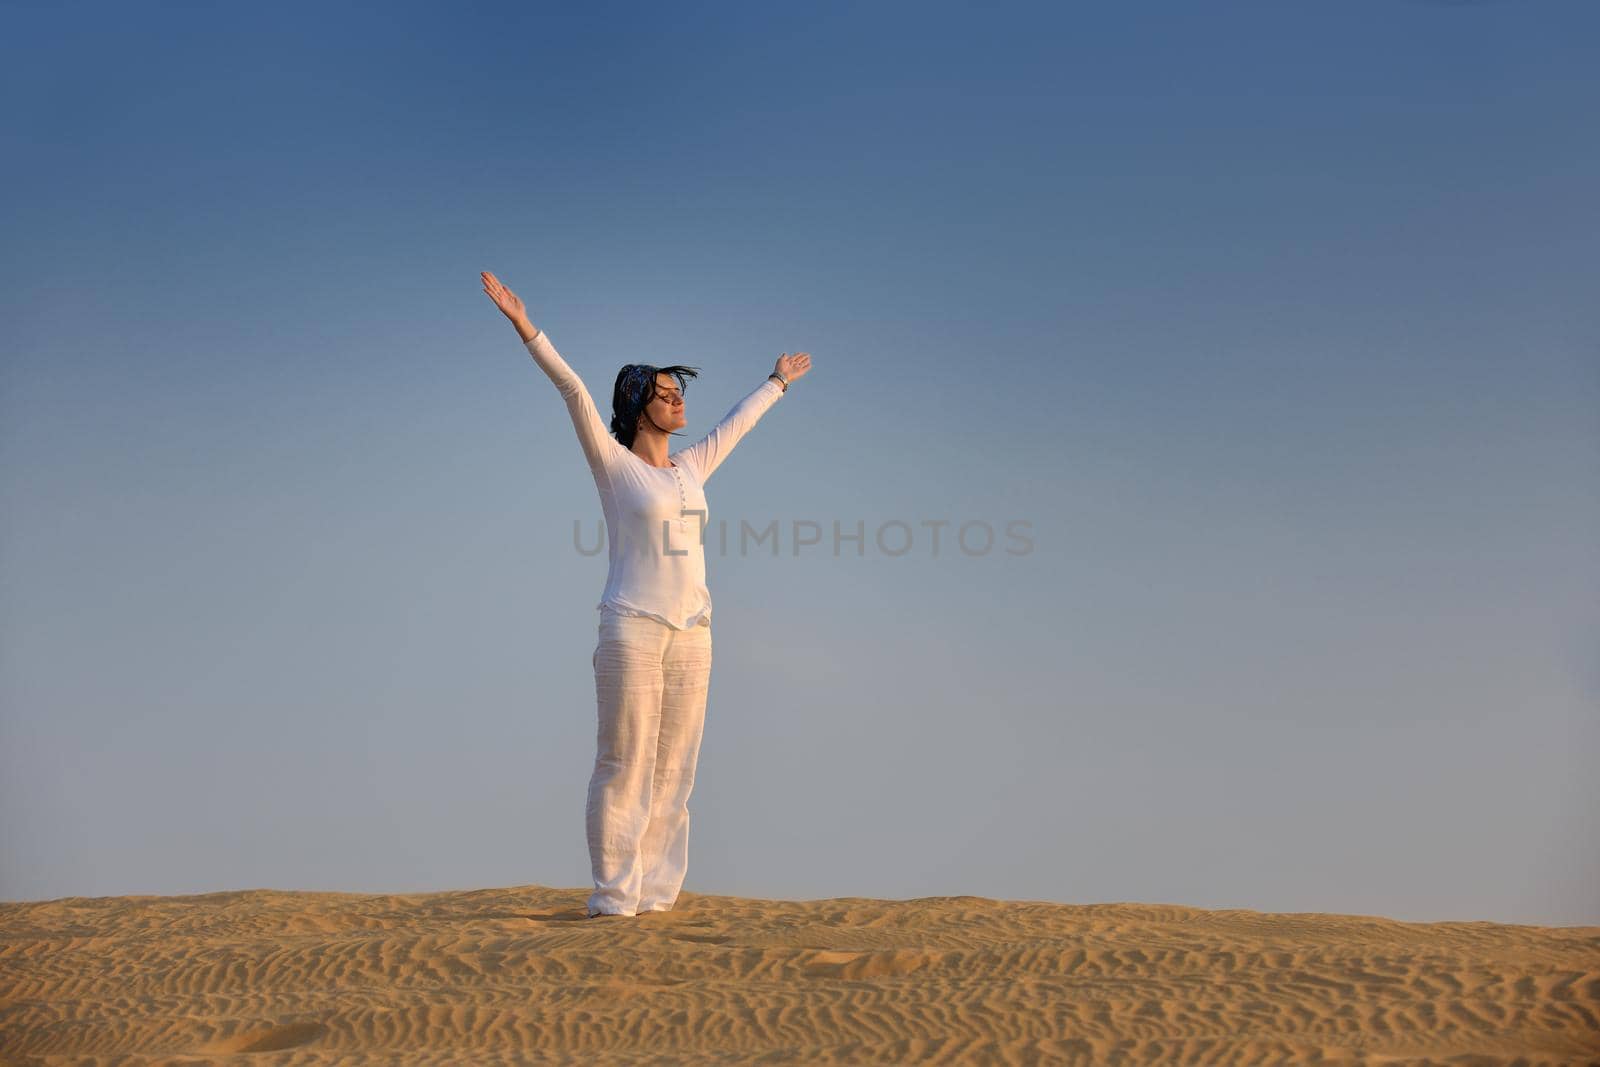
<path fill-rule="evenodd" d="M 686 891 L 1600 923 L 1600 6 L 6 24 L 0 897 L 589 886 L 493 270 L 682 443 L 813 357 L 707 488 L 782 536 Z"/>

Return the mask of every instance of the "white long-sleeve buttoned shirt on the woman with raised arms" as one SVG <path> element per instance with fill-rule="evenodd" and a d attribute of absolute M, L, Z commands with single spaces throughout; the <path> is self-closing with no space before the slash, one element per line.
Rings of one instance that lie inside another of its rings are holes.
<path fill-rule="evenodd" d="M 677 630 L 710 625 L 706 480 L 784 395 L 782 386 L 768 378 L 706 437 L 669 454 L 670 466 L 656 467 L 611 437 L 582 379 L 542 330 L 526 341 L 526 349 L 566 402 L 600 491 L 610 571 L 595 609 L 610 605 L 621 614 L 650 616 Z"/>

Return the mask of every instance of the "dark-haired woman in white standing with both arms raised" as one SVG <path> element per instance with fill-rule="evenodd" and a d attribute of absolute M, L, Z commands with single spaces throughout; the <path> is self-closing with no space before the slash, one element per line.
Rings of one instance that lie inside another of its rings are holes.
<path fill-rule="evenodd" d="M 595 605 L 592 657 L 600 723 L 586 811 L 595 883 L 589 918 L 667 912 L 688 870 L 688 798 L 710 685 L 706 478 L 805 376 L 811 357 L 781 355 L 710 434 L 669 453 L 669 435 L 686 424 L 683 389 L 693 368 L 624 366 L 611 392 L 611 437 L 522 299 L 488 270 L 483 291 L 566 402 L 605 512 L 610 569 Z"/>

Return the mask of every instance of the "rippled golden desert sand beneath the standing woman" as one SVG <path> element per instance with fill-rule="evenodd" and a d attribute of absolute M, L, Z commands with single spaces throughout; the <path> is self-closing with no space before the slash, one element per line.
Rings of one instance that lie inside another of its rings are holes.
<path fill-rule="evenodd" d="M 1600 1062 L 1600 926 L 586 896 L 0 904 L 0 1062 Z"/>

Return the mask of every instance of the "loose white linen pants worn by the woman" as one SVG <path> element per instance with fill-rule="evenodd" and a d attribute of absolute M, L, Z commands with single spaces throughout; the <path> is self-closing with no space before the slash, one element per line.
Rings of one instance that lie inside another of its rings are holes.
<path fill-rule="evenodd" d="M 690 790 L 710 688 L 710 624 L 600 613 L 589 913 L 666 912 L 688 873 Z"/>

